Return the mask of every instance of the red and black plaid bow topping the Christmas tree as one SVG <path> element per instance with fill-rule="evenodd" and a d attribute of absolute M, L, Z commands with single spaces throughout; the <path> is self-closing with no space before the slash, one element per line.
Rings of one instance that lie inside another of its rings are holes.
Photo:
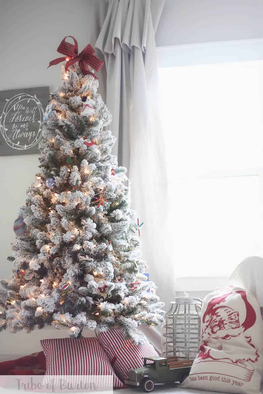
<path fill-rule="evenodd" d="M 65 41 L 67 37 L 73 38 L 75 45 L 71 43 L 67 43 Z M 93 72 L 90 72 L 89 65 L 96 71 L 99 71 L 103 66 L 103 61 L 97 58 L 97 56 L 93 55 L 95 50 L 92 48 L 90 44 L 86 45 L 85 48 L 82 50 L 82 52 L 78 54 L 78 43 L 76 39 L 72 37 L 72 35 L 67 35 L 61 41 L 57 51 L 66 56 L 63 58 L 57 58 L 50 61 L 48 67 L 58 64 L 61 61 L 65 61 L 69 59 L 65 65 L 65 71 L 67 71 L 71 65 L 73 65 L 74 63 L 76 63 L 76 61 L 78 61 L 78 65 L 80 66 L 83 75 L 91 74 L 93 75 L 94 78 L 97 79 L 97 77 L 93 74 Z"/>

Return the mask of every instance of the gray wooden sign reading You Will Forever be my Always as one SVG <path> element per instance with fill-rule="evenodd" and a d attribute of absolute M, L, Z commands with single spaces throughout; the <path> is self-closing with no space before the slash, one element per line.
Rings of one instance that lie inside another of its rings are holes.
<path fill-rule="evenodd" d="M 0 156 L 38 153 L 49 88 L 0 91 Z"/>

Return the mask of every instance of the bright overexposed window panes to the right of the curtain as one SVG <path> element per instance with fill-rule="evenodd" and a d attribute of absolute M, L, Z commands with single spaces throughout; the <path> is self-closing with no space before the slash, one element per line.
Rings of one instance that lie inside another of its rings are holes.
<path fill-rule="evenodd" d="M 263 61 L 160 68 L 178 276 L 263 256 Z"/>

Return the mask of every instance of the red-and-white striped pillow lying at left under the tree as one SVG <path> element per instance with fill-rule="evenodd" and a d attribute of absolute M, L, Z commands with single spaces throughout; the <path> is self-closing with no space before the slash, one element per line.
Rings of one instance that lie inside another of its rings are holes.
<path fill-rule="evenodd" d="M 41 340 L 46 375 L 113 375 L 113 387 L 123 388 L 97 338 Z"/>

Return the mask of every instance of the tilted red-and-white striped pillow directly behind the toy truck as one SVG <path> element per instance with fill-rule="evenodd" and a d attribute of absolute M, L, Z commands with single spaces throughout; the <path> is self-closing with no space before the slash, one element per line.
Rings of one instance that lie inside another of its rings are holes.
<path fill-rule="evenodd" d="M 125 340 L 123 331 L 118 328 L 100 332 L 98 340 L 114 371 L 123 382 L 128 379 L 130 368 L 140 368 L 144 365 L 144 357 L 158 356 L 146 338 L 144 345 L 134 345 L 130 340 Z"/>

